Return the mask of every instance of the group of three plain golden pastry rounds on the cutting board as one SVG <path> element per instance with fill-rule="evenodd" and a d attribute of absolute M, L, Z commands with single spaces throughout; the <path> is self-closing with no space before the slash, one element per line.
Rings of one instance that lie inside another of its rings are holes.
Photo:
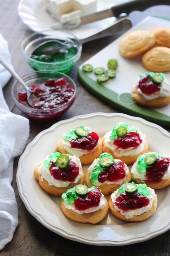
<path fill-rule="evenodd" d="M 127 34 L 119 44 L 125 58 L 142 55 L 142 64 L 153 72 L 170 71 L 170 29 L 156 27 Z"/>

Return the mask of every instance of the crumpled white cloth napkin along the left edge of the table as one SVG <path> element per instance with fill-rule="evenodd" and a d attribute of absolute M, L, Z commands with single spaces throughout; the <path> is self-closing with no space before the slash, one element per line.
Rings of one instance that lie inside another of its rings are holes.
<path fill-rule="evenodd" d="M 11 63 L 7 42 L 0 34 L 0 56 Z M 11 74 L 0 65 L 0 250 L 13 238 L 18 225 L 18 208 L 11 186 L 13 160 L 20 155 L 29 136 L 28 119 L 10 112 L 2 87 Z"/>

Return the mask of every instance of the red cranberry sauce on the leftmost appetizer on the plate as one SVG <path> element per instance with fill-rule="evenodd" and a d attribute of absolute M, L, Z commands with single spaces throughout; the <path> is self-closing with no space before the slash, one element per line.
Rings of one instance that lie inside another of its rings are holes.
<path fill-rule="evenodd" d="M 60 169 L 60 167 L 56 166 L 55 162 L 52 162 L 50 173 L 56 180 L 74 182 L 75 178 L 79 175 L 79 166 L 75 162 L 70 161 L 67 168 Z"/>

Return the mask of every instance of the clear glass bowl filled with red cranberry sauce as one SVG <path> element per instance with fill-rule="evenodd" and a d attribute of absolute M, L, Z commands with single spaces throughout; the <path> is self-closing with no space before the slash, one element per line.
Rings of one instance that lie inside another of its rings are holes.
<path fill-rule="evenodd" d="M 12 97 L 17 108 L 35 120 L 52 120 L 65 113 L 75 100 L 76 85 L 66 74 L 55 71 L 34 71 L 21 77 L 34 92 L 31 107 L 23 86 L 16 81 Z"/>

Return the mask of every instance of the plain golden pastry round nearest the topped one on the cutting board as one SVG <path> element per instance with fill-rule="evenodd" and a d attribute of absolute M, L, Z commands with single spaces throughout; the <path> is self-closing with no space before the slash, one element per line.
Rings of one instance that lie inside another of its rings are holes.
<path fill-rule="evenodd" d="M 143 66 L 153 72 L 170 71 L 170 48 L 156 46 L 142 56 Z"/>

